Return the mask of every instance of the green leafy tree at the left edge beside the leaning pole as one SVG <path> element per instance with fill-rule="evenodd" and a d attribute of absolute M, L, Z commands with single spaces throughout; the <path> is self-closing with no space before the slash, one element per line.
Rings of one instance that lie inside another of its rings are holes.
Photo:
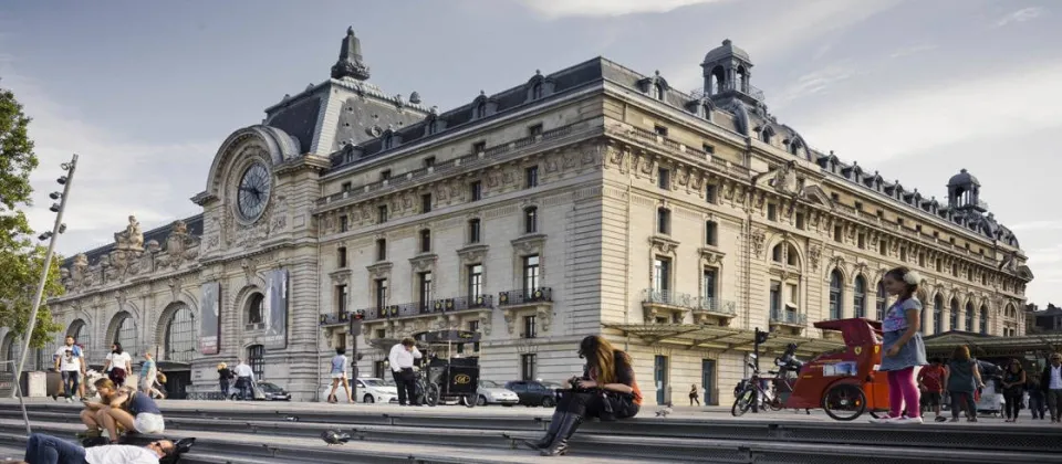
<path fill-rule="evenodd" d="M 48 247 L 38 245 L 37 235 L 25 219 L 32 205 L 30 172 L 37 168 L 33 141 L 27 134 L 30 118 L 11 91 L 0 88 L 0 327 L 10 327 L 23 336 L 29 327 L 33 296 L 40 284 Z M 52 259 L 44 300 L 62 295 L 59 256 Z M 62 327 L 52 321 L 48 307 L 41 305 L 31 346 L 42 348 L 51 334 Z"/>

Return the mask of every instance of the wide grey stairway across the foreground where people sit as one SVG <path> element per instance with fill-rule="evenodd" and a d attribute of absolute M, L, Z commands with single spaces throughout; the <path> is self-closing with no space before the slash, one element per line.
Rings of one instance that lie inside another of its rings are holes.
<path fill-rule="evenodd" d="M 519 444 L 537 439 L 550 411 L 461 407 L 396 408 L 323 403 L 165 401 L 166 437 L 195 436 L 181 462 L 541 463 Z M 27 404 L 34 432 L 73 440 L 79 404 Z M 1062 463 L 1062 426 L 1019 424 L 879 425 L 704 414 L 589 422 L 559 463 Z M 321 432 L 351 433 L 329 447 Z M 144 443 L 150 436 L 140 436 Z M 20 457 L 25 430 L 17 402 L 0 401 L 0 460 Z M 0 461 L 2 462 L 2 461 Z"/>

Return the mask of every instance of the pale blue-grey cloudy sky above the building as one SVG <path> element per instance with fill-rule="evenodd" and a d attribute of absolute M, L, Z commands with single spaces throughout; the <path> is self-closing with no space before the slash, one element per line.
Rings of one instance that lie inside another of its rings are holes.
<path fill-rule="evenodd" d="M 0 86 L 33 117 L 31 223 L 80 155 L 59 241 L 199 212 L 233 130 L 329 77 L 352 25 L 371 82 L 444 110 L 594 56 L 702 85 L 722 40 L 779 122 L 925 196 L 960 169 L 1018 234 L 1031 303 L 1062 303 L 1062 3 L 1051 0 L 112 0 L 0 3 Z"/>

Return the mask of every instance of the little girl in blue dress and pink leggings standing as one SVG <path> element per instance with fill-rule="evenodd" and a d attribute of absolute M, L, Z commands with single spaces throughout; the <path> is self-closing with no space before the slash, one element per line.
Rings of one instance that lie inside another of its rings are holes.
<path fill-rule="evenodd" d="M 922 277 L 907 267 L 885 273 L 885 289 L 896 296 L 882 320 L 882 367 L 888 377 L 888 416 L 874 422 L 922 423 L 920 394 L 916 369 L 925 366 L 926 346 L 922 340 L 922 302 L 916 295 Z M 907 415 L 903 416 L 906 410 Z"/>

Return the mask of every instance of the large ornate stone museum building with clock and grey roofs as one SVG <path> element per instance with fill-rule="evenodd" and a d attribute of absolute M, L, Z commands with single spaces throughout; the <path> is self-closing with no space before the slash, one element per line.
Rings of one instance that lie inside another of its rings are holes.
<path fill-rule="evenodd" d="M 768 112 L 729 40 L 683 92 L 596 57 L 439 112 L 386 94 L 353 30 L 331 78 L 284 95 L 218 149 L 202 212 L 63 263 L 49 306 L 93 365 L 156 354 L 170 391 L 217 391 L 244 358 L 317 400 L 335 347 L 389 377 L 373 340 L 479 331 L 482 378 L 559 381 L 577 341 L 628 350 L 648 403 L 728 403 L 752 350 L 839 346 L 824 319 L 877 319 L 885 271 L 919 271 L 924 331 L 1024 333 L 1032 280 L 966 170 L 947 200 L 814 150 Z M 857 156 L 857 154 L 853 154 Z M 0 333 L 12 359 L 17 338 Z M 50 366 L 39 350 L 29 369 Z"/>

